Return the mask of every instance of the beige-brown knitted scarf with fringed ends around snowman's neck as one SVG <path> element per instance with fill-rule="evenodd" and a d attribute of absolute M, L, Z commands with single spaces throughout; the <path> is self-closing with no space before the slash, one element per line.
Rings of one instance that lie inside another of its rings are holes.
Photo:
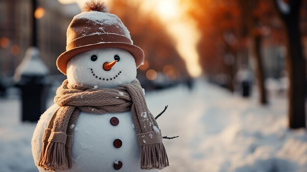
<path fill-rule="evenodd" d="M 74 125 L 81 111 L 103 115 L 129 110 L 141 146 L 141 169 L 169 166 L 161 131 L 148 110 L 137 79 L 111 89 L 73 85 L 66 79 L 57 89 L 54 103 L 60 107 L 53 113 L 44 131 L 38 166 L 53 171 L 72 168 Z"/>

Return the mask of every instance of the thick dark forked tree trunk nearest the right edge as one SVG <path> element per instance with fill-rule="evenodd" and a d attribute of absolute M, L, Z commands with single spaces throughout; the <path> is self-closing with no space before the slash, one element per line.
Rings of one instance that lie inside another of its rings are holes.
<path fill-rule="evenodd" d="M 299 29 L 301 0 L 290 0 L 290 12 L 285 13 L 275 6 L 285 26 L 287 40 L 287 70 L 289 74 L 288 116 L 290 128 L 306 128 L 305 97 L 306 97 L 306 60 L 303 56 Z"/>

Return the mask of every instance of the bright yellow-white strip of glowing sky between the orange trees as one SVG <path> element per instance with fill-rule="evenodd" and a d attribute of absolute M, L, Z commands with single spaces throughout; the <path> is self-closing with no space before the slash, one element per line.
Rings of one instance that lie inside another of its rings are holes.
<path fill-rule="evenodd" d="M 185 61 L 189 74 L 199 76 L 202 74 L 197 51 L 199 31 L 192 20 L 185 17 L 184 7 L 178 0 L 157 0 L 157 3 L 156 14 L 176 41 L 176 49 Z"/>

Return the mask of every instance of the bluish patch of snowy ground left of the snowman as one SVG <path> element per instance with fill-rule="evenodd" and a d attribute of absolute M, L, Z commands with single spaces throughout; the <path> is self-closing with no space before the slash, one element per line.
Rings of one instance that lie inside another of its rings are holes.
<path fill-rule="evenodd" d="M 35 124 L 21 123 L 21 103 L 0 99 L 0 172 L 37 172 L 31 151 Z"/>

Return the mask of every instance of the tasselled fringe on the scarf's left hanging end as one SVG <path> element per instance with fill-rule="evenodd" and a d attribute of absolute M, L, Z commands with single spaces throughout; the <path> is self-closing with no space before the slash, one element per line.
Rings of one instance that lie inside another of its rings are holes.
<path fill-rule="evenodd" d="M 46 148 L 44 146 L 47 145 Z M 43 167 L 45 170 L 55 169 L 71 169 L 72 161 L 70 156 L 70 151 L 67 152 L 69 148 L 65 147 L 63 143 L 49 142 L 43 143 L 40 161 L 38 162 L 39 167 Z M 43 151 L 44 150 L 44 151 Z M 69 153 L 69 156 L 68 156 Z"/>

